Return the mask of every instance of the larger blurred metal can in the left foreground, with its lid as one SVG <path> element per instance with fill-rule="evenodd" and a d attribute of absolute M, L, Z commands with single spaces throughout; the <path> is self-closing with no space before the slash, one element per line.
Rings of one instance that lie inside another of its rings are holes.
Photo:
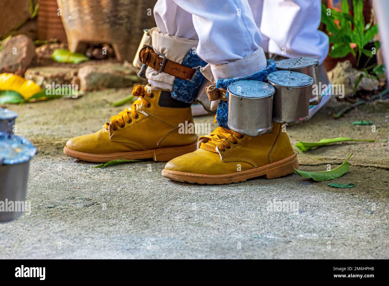
<path fill-rule="evenodd" d="M 0 223 L 15 220 L 28 210 L 28 169 L 36 153 L 37 148 L 27 139 L 0 132 L 0 202 L 7 208 L 0 211 Z M 13 209 L 8 209 L 10 203 Z"/>

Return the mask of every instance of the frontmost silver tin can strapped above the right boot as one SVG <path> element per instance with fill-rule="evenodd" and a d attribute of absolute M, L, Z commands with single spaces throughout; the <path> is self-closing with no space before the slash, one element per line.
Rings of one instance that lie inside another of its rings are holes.
<path fill-rule="evenodd" d="M 231 130 L 249 136 L 272 130 L 273 86 L 245 79 L 231 83 L 227 91 L 227 125 Z"/>

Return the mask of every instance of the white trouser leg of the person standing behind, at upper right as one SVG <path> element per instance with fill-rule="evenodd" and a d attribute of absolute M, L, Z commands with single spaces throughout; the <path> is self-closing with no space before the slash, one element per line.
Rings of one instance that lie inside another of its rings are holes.
<path fill-rule="evenodd" d="M 321 1 L 249 0 L 249 3 L 260 25 L 264 38 L 261 46 L 265 51 L 288 58 L 310 56 L 322 64 L 328 54 L 329 41 L 327 35 L 318 30 Z"/>

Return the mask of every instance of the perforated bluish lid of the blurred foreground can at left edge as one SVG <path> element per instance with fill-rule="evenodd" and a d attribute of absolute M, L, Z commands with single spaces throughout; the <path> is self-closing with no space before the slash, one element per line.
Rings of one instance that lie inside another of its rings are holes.
<path fill-rule="evenodd" d="M 0 166 L 29 161 L 37 148 L 26 138 L 0 132 Z"/>

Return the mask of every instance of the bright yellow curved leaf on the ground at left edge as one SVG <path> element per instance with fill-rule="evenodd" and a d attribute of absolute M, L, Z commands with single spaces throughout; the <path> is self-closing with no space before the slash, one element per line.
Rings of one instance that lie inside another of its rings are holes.
<path fill-rule="evenodd" d="M 16 74 L 0 74 L 0 90 L 12 90 L 20 93 L 24 99 L 32 97 L 42 91 L 40 86 L 33 81 L 24 79 Z"/>

